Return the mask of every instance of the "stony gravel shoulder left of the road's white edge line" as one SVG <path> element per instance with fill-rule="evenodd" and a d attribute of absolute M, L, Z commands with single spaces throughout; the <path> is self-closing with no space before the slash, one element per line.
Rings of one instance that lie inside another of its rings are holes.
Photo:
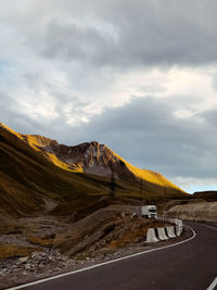
<path fill-rule="evenodd" d="M 113 252 L 100 252 L 98 256 L 90 257 L 82 255 L 78 259 L 60 254 L 58 250 L 47 249 L 43 252 L 33 252 L 29 256 L 11 257 L 3 260 L 0 264 L 0 289 L 39 280 L 46 277 L 86 268 L 106 261 L 127 256 L 151 249 L 186 240 L 192 236 L 189 228 L 184 227 L 183 234 L 179 238 L 161 241 L 155 244 L 146 244 L 145 238 L 137 240 L 126 247 L 115 249 Z"/>

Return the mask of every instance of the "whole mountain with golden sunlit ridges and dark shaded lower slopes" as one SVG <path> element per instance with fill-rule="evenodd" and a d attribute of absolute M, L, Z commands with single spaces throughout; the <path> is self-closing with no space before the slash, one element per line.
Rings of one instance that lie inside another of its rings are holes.
<path fill-rule="evenodd" d="M 106 203 L 111 173 L 115 198 L 187 197 L 161 174 L 132 166 L 104 144 L 67 147 L 0 123 L 0 214 L 30 215 L 52 203 L 54 214 L 92 211 Z"/>

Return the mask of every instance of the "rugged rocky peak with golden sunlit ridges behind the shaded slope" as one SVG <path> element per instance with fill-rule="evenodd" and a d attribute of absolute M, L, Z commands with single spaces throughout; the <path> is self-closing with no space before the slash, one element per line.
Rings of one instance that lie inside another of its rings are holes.
<path fill-rule="evenodd" d="M 140 169 L 118 156 L 105 144 L 97 141 L 85 142 L 78 146 L 59 144 L 55 140 L 40 135 L 17 134 L 0 124 L 24 142 L 28 143 L 36 151 L 39 151 L 56 166 L 75 173 L 87 173 L 108 177 L 112 173 L 116 179 L 149 182 L 159 187 L 182 192 L 158 173 Z"/>

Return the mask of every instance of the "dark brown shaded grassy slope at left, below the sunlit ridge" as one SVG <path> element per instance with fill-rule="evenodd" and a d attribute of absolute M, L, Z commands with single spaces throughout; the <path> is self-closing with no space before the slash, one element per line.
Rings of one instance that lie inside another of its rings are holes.
<path fill-rule="evenodd" d="M 40 152 L 0 128 L 0 213 L 31 214 L 43 209 L 43 198 L 62 203 L 106 191 L 106 187 L 91 178 L 84 180 L 82 176 L 56 167 Z"/>

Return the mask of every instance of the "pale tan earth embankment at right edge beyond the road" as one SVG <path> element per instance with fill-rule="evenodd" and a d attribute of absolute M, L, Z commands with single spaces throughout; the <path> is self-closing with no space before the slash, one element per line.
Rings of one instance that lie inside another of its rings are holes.
<path fill-rule="evenodd" d="M 166 214 L 181 219 L 217 222 L 217 202 L 175 205 Z"/>

